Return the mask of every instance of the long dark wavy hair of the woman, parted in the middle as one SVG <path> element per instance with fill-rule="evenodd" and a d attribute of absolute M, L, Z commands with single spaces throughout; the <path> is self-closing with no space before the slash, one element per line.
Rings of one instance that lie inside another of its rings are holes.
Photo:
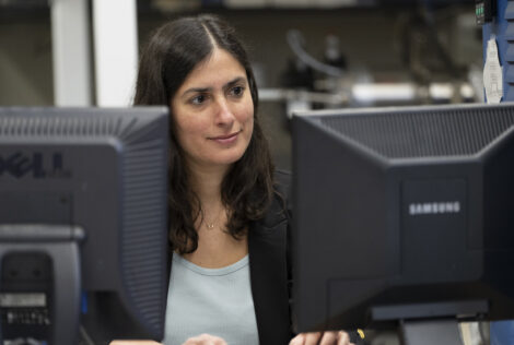
<path fill-rule="evenodd" d="M 213 41 L 214 44 L 213 44 Z M 245 235 L 252 221 L 264 217 L 273 195 L 273 165 L 268 143 L 257 118 L 258 93 L 246 51 L 234 28 L 214 15 L 172 21 L 151 36 L 141 53 L 135 105 L 166 105 L 187 75 L 208 59 L 214 48 L 231 53 L 245 69 L 254 102 L 254 132 L 242 158 L 233 164 L 221 186 L 221 200 L 229 210 L 226 231 Z M 202 219 L 200 200 L 190 188 L 183 148 L 170 121 L 170 243 L 180 254 L 198 248 L 195 221 Z"/>

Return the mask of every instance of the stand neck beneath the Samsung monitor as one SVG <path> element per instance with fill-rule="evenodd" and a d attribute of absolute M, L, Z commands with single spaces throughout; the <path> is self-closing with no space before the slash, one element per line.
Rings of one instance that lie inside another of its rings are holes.
<path fill-rule="evenodd" d="M 457 319 L 400 322 L 404 345 L 463 345 Z"/>

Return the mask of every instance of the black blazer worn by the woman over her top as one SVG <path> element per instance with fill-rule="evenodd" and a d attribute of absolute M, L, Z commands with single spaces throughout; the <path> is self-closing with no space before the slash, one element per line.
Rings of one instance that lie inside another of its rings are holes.
<path fill-rule="evenodd" d="M 274 178 L 279 195 L 274 195 L 262 219 L 250 223 L 248 231 L 250 286 L 261 345 L 287 345 L 293 335 L 288 246 L 291 226 L 288 203 L 290 175 L 277 171 Z M 171 260 L 168 267 L 171 275 Z"/>

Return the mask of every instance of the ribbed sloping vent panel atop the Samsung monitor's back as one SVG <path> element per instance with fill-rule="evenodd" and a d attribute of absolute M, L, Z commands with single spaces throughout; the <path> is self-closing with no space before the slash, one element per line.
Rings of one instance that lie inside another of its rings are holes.
<path fill-rule="evenodd" d="M 389 158 L 472 155 L 514 123 L 507 107 L 325 116 L 320 122 Z"/>

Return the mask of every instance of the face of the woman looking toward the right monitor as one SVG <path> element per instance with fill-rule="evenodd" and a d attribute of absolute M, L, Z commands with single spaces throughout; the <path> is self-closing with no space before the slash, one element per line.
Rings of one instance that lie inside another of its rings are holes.
<path fill-rule="evenodd" d="M 214 48 L 171 107 L 189 167 L 227 167 L 243 156 L 254 130 L 254 103 L 245 69 L 229 52 Z"/>

